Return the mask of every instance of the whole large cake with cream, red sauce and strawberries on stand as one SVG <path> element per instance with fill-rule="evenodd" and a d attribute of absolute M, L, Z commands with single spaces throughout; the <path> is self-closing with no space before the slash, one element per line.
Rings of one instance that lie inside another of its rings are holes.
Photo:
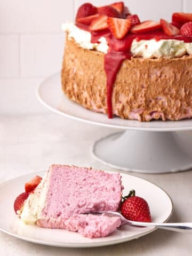
<path fill-rule="evenodd" d="M 70 100 L 109 118 L 192 118 L 192 13 L 141 22 L 123 2 L 85 3 L 62 28 Z"/>

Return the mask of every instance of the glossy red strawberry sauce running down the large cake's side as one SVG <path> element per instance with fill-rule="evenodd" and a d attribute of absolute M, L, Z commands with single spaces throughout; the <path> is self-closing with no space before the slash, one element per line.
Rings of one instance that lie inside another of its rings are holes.
<path fill-rule="evenodd" d="M 76 26 L 86 30 L 89 30 L 89 26 L 76 23 Z M 91 43 L 99 43 L 100 37 L 105 37 L 109 45 L 108 53 L 104 57 L 104 69 L 107 76 L 107 108 L 108 117 L 113 118 L 113 107 L 112 107 L 112 95 L 113 86 L 119 69 L 121 68 L 122 62 L 125 59 L 131 59 L 131 45 L 133 40 L 138 42 L 141 40 L 155 39 L 157 42 L 162 39 L 175 39 L 184 41 L 185 43 L 191 43 L 192 38 L 186 36 L 167 36 L 162 30 L 156 30 L 149 33 L 143 34 L 127 34 L 123 39 L 116 39 L 109 30 L 91 32 Z"/>

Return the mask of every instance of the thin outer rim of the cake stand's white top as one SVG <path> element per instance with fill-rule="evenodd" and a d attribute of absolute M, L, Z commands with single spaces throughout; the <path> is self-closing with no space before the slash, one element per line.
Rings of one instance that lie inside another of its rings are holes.
<path fill-rule="evenodd" d="M 173 127 L 137 127 L 137 126 L 123 126 L 123 125 L 117 125 L 117 124 L 107 124 L 107 123 L 102 123 L 102 121 L 101 122 L 91 121 L 91 120 L 85 119 L 83 117 L 78 117 L 78 116 L 74 116 L 74 115 L 71 115 L 71 114 L 67 114 L 66 112 L 63 112 L 59 109 L 56 109 L 56 108 L 52 107 L 49 103 L 44 101 L 43 97 L 41 96 L 42 86 L 46 83 L 46 81 L 49 81 L 51 78 L 54 78 L 54 77 L 60 77 L 60 72 L 57 72 L 57 73 L 54 73 L 50 76 L 45 77 L 43 79 L 43 81 L 39 85 L 37 85 L 37 87 L 36 87 L 36 97 L 39 100 L 39 102 L 42 103 L 42 105 L 44 105 L 46 108 L 48 108 L 49 110 L 53 111 L 56 114 L 65 116 L 65 117 L 70 118 L 70 119 L 74 119 L 76 121 L 85 122 L 85 123 L 88 123 L 88 124 L 94 124 L 94 125 L 99 125 L 99 126 L 104 126 L 104 127 L 109 127 L 109 128 L 122 129 L 122 130 L 154 131 L 154 132 L 171 132 L 171 131 L 173 132 L 173 131 L 191 131 L 192 130 L 192 119 L 190 119 L 190 118 L 189 119 L 184 119 L 184 120 L 179 120 L 179 121 L 161 121 L 161 120 L 158 120 L 158 121 L 153 121 L 153 122 L 162 122 L 162 123 L 165 124 L 165 122 L 173 122 L 173 123 L 174 122 L 185 122 L 185 120 L 186 120 L 186 121 L 191 121 L 191 127 L 184 127 L 184 126 L 174 127 L 174 128 Z M 61 90 L 61 92 L 62 92 L 62 90 Z M 64 97 L 67 98 L 67 96 L 64 93 L 63 93 L 63 95 L 64 95 Z M 72 100 L 71 100 L 71 103 L 77 104 L 76 102 L 74 102 Z M 78 107 L 82 108 L 83 106 L 78 105 Z M 86 108 L 84 108 L 84 109 L 88 110 Z M 94 114 L 94 111 L 92 111 L 92 112 Z M 102 113 L 100 113 L 100 114 L 102 114 Z M 126 121 L 129 122 L 130 120 L 126 120 Z M 137 120 L 131 120 L 131 121 L 132 122 L 139 122 Z M 147 122 L 143 122 L 143 123 L 147 123 Z"/>

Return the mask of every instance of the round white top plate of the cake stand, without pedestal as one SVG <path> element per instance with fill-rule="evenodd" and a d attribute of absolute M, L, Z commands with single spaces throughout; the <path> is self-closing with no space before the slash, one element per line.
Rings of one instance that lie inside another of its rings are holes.
<path fill-rule="evenodd" d="M 182 121 L 153 121 L 139 122 L 124 120 L 119 117 L 108 119 L 107 115 L 94 113 L 77 103 L 70 101 L 61 90 L 61 78 L 57 73 L 39 85 L 38 99 L 50 110 L 60 115 L 87 123 L 114 127 L 118 129 L 143 130 L 143 131 L 184 131 L 192 130 L 192 119 Z"/>

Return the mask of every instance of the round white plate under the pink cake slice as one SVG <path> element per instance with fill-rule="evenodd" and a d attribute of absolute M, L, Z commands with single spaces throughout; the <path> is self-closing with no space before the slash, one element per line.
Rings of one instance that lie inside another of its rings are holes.
<path fill-rule="evenodd" d="M 61 230 L 45 229 L 36 225 L 25 225 L 15 215 L 13 210 L 14 199 L 22 193 L 25 182 L 35 175 L 33 173 L 7 181 L 0 186 L 0 230 L 14 237 L 37 243 L 61 247 L 96 247 L 118 244 L 139 238 L 155 230 L 153 228 L 124 226 L 108 237 L 89 239 L 78 233 Z M 150 206 L 151 217 L 154 222 L 167 221 L 173 211 L 170 197 L 161 188 L 149 181 L 122 174 L 125 194 L 135 189 L 138 196 L 144 197 Z M 5 196 L 6 195 L 6 196 Z"/>

